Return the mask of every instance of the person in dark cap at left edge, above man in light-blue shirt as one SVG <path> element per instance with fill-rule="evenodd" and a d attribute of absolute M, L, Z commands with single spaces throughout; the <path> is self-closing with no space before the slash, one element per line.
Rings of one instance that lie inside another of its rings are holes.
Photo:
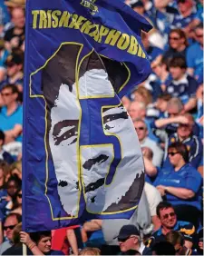
<path fill-rule="evenodd" d="M 23 65 L 24 53 L 21 50 L 15 51 L 7 57 L 5 61 L 7 72 L 1 83 L 1 88 L 4 88 L 5 84 L 15 84 L 18 90 L 22 92 L 24 84 Z"/>

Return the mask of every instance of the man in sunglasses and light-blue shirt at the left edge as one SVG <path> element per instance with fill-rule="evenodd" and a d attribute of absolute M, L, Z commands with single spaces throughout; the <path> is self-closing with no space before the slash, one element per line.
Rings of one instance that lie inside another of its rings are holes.
<path fill-rule="evenodd" d="M 23 108 L 18 103 L 18 89 L 7 84 L 1 91 L 4 107 L 0 113 L 0 129 L 5 133 L 5 143 L 22 142 Z"/>

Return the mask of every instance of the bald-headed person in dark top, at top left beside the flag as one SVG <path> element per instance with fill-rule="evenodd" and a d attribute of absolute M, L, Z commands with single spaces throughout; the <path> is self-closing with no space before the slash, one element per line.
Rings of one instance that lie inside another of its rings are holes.
<path fill-rule="evenodd" d="M 14 1 L 14 0 L 13 0 Z M 24 43 L 24 9 L 15 7 L 11 9 L 11 20 L 14 27 L 5 32 L 5 48 L 11 51 L 14 48 L 20 47 Z"/>

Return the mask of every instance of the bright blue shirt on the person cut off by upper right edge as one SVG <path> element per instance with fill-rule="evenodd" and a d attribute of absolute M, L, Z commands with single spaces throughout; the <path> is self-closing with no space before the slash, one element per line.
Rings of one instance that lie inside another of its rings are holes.
<path fill-rule="evenodd" d="M 194 77 L 200 82 L 203 81 L 203 49 L 199 43 L 189 46 L 187 51 L 187 64 L 194 69 Z"/>

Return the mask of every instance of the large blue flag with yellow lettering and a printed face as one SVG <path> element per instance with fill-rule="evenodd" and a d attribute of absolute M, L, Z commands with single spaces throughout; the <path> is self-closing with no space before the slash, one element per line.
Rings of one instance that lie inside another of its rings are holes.
<path fill-rule="evenodd" d="M 25 231 L 130 218 L 144 167 L 123 95 L 151 73 L 121 1 L 29 0 L 24 81 Z"/>

